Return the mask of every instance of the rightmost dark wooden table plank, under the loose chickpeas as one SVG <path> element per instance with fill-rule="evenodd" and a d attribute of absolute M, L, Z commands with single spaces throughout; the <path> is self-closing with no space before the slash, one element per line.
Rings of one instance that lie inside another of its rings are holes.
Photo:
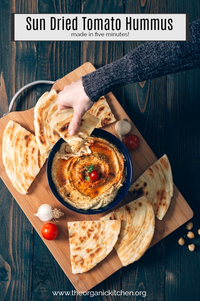
<path fill-rule="evenodd" d="M 167 1 L 169 13 L 190 13 L 190 22 L 199 19 L 199 1 Z M 166 300 L 194 301 L 200 298 L 200 268 L 197 262 L 199 253 L 199 227 L 200 197 L 200 126 L 199 126 L 199 95 L 200 69 L 179 72 L 167 76 L 166 82 L 166 142 L 172 166 L 174 166 L 174 181 L 194 211 L 192 222 L 195 233 L 194 239 L 186 235 L 188 230 L 182 226 L 166 238 Z M 169 144 L 168 141 L 174 142 Z M 183 237 L 185 245 L 180 247 L 177 240 Z M 195 244 L 195 252 L 188 250 L 189 244 Z M 171 245 L 175 246 L 171 248 Z M 188 283 L 189 279 L 189 283 Z M 188 283 L 189 285 L 187 285 Z"/>

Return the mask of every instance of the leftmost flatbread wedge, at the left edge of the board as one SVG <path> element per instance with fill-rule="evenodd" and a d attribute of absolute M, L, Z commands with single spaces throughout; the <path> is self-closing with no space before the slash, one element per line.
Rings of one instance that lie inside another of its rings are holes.
<path fill-rule="evenodd" d="M 36 138 L 18 123 L 10 120 L 3 134 L 3 163 L 13 186 L 26 194 L 46 160 L 41 155 Z"/>

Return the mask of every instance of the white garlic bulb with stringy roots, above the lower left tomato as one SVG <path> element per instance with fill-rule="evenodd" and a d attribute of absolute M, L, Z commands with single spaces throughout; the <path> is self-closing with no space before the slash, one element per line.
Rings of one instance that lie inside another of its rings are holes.
<path fill-rule="evenodd" d="M 62 215 L 64 215 L 64 213 L 61 211 L 61 209 L 54 208 L 49 204 L 41 205 L 38 208 L 37 213 L 34 214 L 34 216 L 39 217 L 39 219 L 41 219 L 43 222 L 48 222 L 51 219 L 57 222 L 56 219 Z"/>

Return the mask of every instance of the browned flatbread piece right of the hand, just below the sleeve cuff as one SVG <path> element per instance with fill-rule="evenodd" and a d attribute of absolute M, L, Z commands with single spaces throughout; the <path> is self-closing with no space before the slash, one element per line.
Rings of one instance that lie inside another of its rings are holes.
<path fill-rule="evenodd" d="M 101 128 L 102 126 L 106 126 L 114 121 L 116 121 L 109 104 L 106 101 L 104 96 L 101 96 L 98 101 L 94 103 L 88 113 L 99 118 L 99 123 L 97 124 L 97 128 Z"/>

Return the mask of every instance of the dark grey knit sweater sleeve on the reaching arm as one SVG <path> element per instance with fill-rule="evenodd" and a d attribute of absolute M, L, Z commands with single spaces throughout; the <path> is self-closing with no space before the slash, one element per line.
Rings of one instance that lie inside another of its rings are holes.
<path fill-rule="evenodd" d="M 132 82 L 200 67 L 200 20 L 190 23 L 189 42 L 148 42 L 120 60 L 82 77 L 91 101 Z"/>

